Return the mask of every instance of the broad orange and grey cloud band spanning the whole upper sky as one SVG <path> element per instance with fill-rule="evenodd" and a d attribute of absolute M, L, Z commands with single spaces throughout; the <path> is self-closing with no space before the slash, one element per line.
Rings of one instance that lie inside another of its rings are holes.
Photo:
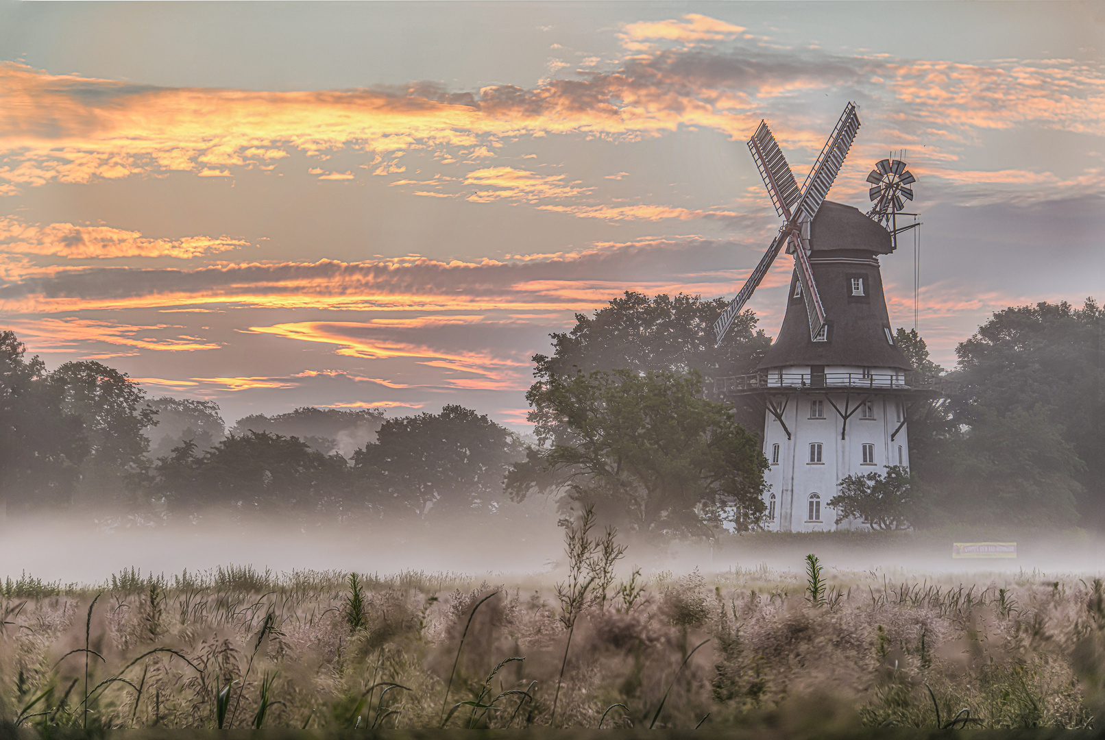
<path fill-rule="evenodd" d="M 695 44 L 739 31 L 690 14 L 632 23 L 622 35 L 638 44 Z M 429 84 L 298 92 L 158 87 L 4 62 L 0 189 L 167 171 L 232 177 L 235 168 L 272 167 L 293 150 L 317 157 L 365 152 L 380 165 L 377 172 L 394 173 L 406 168 L 381 158 L 413 149 L 434 151 L 449 163 L 492 157 L 504 139 L 523 136 L 636 140 L 705 127 L 744 139 L 765 116 L 786 149 L 815 152 L 825 125 L 804 103 L 819 99 L 822 89 L 864 104 L 867 128 L 860 146 L 877 150 L 923 141 L 932 156 L 954 159 L 946 148 L 988 129 L 1105 133 L 1105 73 L 1071 60 L 966 64 L 759 45 L 650 47 L 612 71 L 585 70 L 529 89 L 495 85 L 461 93 Z M 326 179 L 351 177 L 351 170 L 313 169 Z M 477 188 L 477 199 L 564 198 L 588 190 L 569 178 L 513 168 L 477 172 L 467 183 Z"/>

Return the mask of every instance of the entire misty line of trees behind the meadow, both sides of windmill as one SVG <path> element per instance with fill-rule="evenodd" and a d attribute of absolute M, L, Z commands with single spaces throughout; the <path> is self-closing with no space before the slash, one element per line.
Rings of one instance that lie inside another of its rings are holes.
<path fill-rule="evenodd" d="M 708 391 L 713 378 L 755 371 L 770 338 L 745 311 L 714 347 L 724 306 L 627 293 L 577 315 L 551 335 L 551 356 L 534 357 L 529 445 L 457 405 L 396 419 L 303 408 L 227 430 L 213 402 L 147 399 L 94 361 L 51 372 L 0 332 L 0 496 L 9 510 L 433 518 L 494 514 L 540 493 L 641 531 L 755 529 L 764 410 Z M 916 331 L 898 329 L 909 379 L 940 380 L 949 395 L 912 409 L 912 471 L 895 478 L 907 495 L 891 520 L 1105 524 L 1103 335 L 1092 299 L 1011 307 L 960 343 L 946 371 Z"/>

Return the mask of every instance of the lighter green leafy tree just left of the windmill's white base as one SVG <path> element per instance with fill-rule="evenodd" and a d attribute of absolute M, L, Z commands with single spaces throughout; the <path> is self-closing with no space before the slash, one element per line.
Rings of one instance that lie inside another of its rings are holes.
<path fill-rule="evenodd" d="M 723 521 L 744 531 L 762 517 L 767 459 L 729 409 L 702 398 L 697 371 L 552 374 L 526 399 L 540 446 L 507 476 L 515 500 L 558 494 L 671 535 Z"/>

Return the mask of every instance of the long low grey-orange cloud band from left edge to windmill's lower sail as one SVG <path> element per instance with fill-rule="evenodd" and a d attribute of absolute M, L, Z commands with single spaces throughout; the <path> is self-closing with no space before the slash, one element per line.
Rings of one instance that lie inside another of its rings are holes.
<path fill-rule="evenodd" d="M 90 309 L 253 306 L 330 310 L 517 313 L 586 310 L 625 289 L 652 288 L 656 275 L 698 273 L 714 295 L 732 289 L 734 254 L 755 263 L 764 245 L 702 239 L 601 243 L 579 252 L 508 262 L 441 262 L 427 257 L 371 262 L 239 263 L 197 269 L 62 269 L 0 286 L 0 310 L 50 314 Z M 750 247 L 750 252 L 748 251 Z M 572 285 L 618 275 L 586 295 L 539 285 Z M 678 278 L 665 285 L 680 284 Z M 598 294 L 603 293 L 606 297 Z M 457 320 L 457 319 L 449 319 Z"/>

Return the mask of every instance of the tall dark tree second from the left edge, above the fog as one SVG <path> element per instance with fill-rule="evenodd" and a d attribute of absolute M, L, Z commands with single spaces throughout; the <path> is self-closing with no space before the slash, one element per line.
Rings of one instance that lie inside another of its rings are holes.
<path fill-rule="evenodd" d="M 146 391 L 126 373 L 99 362 L 65 362 L 50 382 L 61 392 L 62 410 L 84 423 L 88 456 L 81 467 L 78 493 L 126 500 L 136 474 L 148 466 L 144 431 L 155 423 Z"/>

